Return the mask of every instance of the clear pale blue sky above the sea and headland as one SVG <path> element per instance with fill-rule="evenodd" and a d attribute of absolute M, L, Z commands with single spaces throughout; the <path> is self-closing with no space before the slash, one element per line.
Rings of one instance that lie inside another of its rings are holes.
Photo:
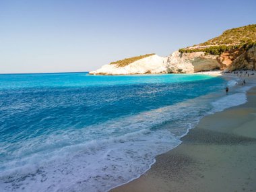
<path fill-rule="evenodd" d="M 256 1 L 0 0 L 0 73 L 90 71 L 256 23 Z"/>

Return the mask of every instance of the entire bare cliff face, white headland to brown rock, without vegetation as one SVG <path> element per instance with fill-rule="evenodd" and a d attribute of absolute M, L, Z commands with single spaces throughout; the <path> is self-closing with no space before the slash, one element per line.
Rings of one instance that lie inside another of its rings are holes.
<path fill-rule="evenodd" d="M 103 65 L 90 74 L 96 75 L 129 75 L 146 73 L 194 73 L 213 69 L 256 69 L 256 46 L 248 51 L 234 49 L 222 55 L 205 55 L 204 52 L 180 53 L 174 51 L 168 57 L 152 55 L 139 59 L 125 67 Z"/>

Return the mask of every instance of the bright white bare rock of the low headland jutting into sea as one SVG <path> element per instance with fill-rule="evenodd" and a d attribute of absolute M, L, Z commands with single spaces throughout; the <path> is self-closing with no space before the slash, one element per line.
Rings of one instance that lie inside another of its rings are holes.
<path fill-rule="evenodd" d="M 143 59 L 139 59 L 124 67 L 118 64 L 103 65 L 96 71 L 90 71 L 92 75 L 131 75 L 131 74 L 147 74 L 147 73 L 166 73 L 167 57 L 152 55 Z"/>

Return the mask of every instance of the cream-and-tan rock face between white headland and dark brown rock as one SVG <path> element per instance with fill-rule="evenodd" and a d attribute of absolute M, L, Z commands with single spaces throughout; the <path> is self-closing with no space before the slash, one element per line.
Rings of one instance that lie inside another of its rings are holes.
<path fill-rule="evenodd" d="M 175 51 L 167 59 L 168 73 L 194 73 L 220 69 L 216 55 L 205 55 L 204 52 L 180 53 Z"/>

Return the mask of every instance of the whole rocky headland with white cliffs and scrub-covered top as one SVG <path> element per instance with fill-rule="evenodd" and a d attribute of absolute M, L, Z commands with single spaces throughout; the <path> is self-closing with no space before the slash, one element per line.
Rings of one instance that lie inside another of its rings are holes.
<path fill-rule="evenodd" d="M 103 65 L 90 74 L 194 73 L 213 69 L 256 69 L 256 24 L 226 30 L 218 37 L 174 51 L 168 57 L 140 55 Z"/>

